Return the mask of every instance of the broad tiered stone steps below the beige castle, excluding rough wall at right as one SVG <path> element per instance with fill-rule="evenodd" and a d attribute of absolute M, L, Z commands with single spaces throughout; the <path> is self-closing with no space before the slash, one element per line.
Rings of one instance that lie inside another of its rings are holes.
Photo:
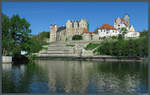
<path fill-rule="evenodd" d="M 43 47 L 46 49 L 37 53 L 37 56 L 76 56 L 74 47 L 67 46 L 65 42 L 54 42 Z"/>

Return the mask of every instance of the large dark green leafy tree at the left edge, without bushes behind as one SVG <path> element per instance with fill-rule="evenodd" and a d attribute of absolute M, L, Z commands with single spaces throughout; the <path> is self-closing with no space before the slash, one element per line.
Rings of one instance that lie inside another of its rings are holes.
<path fill-rule="evenodd" d="M 22 50 L 28 51 L 24 46 L 31 38 L 30 24 L 19 15 L 8 18 L 2 14 L 2 54 L 20 54 Z"/>

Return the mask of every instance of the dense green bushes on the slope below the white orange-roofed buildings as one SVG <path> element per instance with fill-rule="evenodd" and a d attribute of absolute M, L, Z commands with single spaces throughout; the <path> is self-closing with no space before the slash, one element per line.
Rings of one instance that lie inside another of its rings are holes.
<path fill-rule="evenodd" d="M 112 56 L 148 56 L 148 31 L 141 32 L 137 39 L 122 39 L 114 42 L 102 42 L 95 50 L 99 55 Z"/>

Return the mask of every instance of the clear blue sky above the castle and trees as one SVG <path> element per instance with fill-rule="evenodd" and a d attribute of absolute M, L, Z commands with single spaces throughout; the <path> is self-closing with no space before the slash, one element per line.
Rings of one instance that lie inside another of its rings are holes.
<path fill-rule="evenodd" d="M 148 30 L 148 2 L 2 2 L 2 12 L 19 14 L 30 24 L 33 34 L 49 31 L 50 24 L 65 25 L 68 19 L 89 22 L 94 31 L 102 24 L 113 25 L 128 13 L 136 31 Z"/>

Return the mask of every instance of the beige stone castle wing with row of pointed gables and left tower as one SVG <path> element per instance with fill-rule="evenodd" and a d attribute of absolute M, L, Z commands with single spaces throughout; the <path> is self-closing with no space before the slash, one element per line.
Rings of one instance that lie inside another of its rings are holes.
<path fill-rule="evenodd" d="M 66 26 L 50 26 L 50 41 L 72 40 L 73 35 L 81 35 L 88 29 L 88 22 L 85 19 L 80 21 L 68 20 Z"/>

